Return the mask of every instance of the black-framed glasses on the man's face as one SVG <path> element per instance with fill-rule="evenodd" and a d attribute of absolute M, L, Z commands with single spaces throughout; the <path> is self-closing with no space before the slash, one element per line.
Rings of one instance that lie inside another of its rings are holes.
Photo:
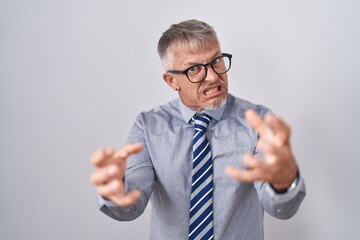
<path fill-rule="evenodd" d="M 185 74 L 186 77 L 192 83 L 202 82 L 206 79 L 208 66 L 217 74 L 224 74 L 230 70 L 232 55 L 229 53 L 222 53 L 220 57 L 215 58 L 206 64 L 196 64 L 191 66 L 184 71 L 180 70 L 168 70 L 168 73 L 173 74 Z"/>

